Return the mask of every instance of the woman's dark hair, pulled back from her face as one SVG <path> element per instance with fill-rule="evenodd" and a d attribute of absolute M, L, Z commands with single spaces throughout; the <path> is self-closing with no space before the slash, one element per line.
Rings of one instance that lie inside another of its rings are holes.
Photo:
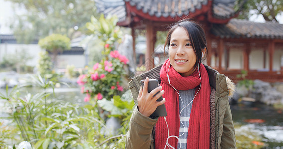
<path fill-rule="evenodd" d="M 193 69 L 195 69 L 198 66 L 198 63 L 201 61 L 202 57 L 202 51 L 204 48 L 206 48 L 206 53 L 207 53 L 207 42 L 206 42 L 206 37 L 205 37 L 205 32 L 202 29 L 202 27 L 193 22 L 190 21 L 189 19 L 184 19 L 181 20 L 177 23 L 172 24 L 170 27 L 170 30 L 168 31 L 165 44 L 164 44 L 164 52 L 166 46 L 170 46 L 170 40 L 171 40 L 171 34 L 172 32 L 178 28 L 178 27 L 183 27 L 185 30 L 187 30 L 187 35 L 189 36 L 189 41 L 192 44 L 193 50 L 196 54 L 196 63 L 194 64 Z"/>

